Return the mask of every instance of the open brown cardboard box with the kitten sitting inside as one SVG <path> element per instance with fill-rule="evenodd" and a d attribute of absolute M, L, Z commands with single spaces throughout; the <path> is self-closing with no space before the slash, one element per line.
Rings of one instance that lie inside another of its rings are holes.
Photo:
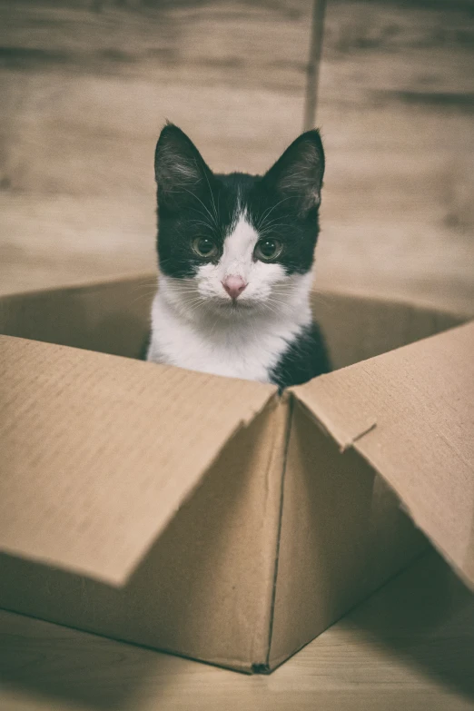
<path fill-rule="evenodd" d="M 315 295 L 341 370 L 279 397 L 131 360 L 146 282 L 0 300 L 1 607 L 266 672 L 416 527 L 474 583 L 474 323 Z"/>

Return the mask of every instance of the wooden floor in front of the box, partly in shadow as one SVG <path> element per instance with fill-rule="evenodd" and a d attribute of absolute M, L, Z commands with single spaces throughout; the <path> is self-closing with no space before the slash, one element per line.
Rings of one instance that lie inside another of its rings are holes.
<path fill-rule="evenodd" d="M 0 612 L 1 711 L 467 711 L 474 597 L 421 558 L 271 676 Z"/>

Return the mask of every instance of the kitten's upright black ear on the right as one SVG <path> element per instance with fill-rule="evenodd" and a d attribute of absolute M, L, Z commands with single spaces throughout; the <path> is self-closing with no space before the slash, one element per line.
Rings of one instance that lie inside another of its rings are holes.
<path fill-rule="evenodd" d="M 291 201 L 301 215 L 318 208 L 324 175 L 324 151 L 316 129 L 301 133 L 263 176 L 262 182 Z"/>

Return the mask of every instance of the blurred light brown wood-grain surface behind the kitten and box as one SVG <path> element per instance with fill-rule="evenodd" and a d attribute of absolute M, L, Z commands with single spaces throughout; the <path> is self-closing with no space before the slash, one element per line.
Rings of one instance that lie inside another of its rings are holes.
<path fill-rule="evenodd" d="M 0 293 L 155 269 L 166 118 L 216 171 L 303 128 L 311 0 L 0 0 Z M 474 309 L 474 2 L 328 0 L 321 287 Z"/>

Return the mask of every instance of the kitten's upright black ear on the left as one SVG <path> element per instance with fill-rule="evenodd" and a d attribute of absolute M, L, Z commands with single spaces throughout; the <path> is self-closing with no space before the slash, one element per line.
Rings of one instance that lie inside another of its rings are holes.
<path fill-rule="evenodd" d="M 170 206 L 209 191 L 213 179 L 193 141 L 173 123 L 167 123 L 156 143 L 154 176 L 159 202 Z"/>

